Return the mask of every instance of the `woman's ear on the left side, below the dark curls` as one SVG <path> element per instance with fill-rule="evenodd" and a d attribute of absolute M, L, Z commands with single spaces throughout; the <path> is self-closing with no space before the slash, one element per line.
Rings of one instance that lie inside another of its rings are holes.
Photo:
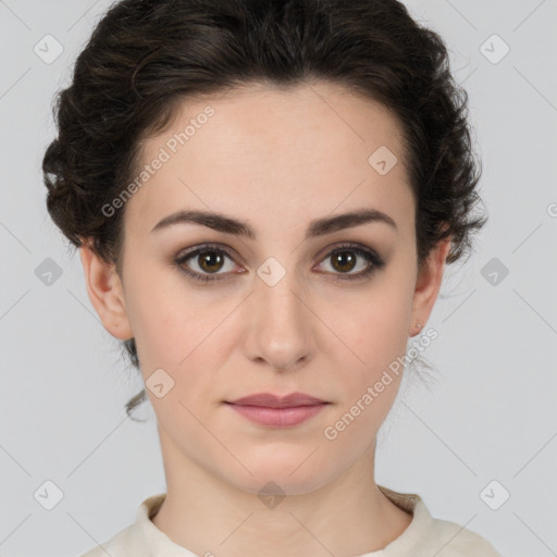
<path fill-rule="evenodd" d="M 107 263 L 84 243 L 79 247 L 87 293 L 104 329 L 116 338 L 134 336 L 127 317 L 122 282 L 114 263 Z"/>

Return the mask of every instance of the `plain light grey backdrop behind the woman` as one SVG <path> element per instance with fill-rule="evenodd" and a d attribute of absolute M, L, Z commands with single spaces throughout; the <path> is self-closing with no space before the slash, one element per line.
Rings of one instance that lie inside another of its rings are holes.
<path fill-rule="evenodd" d="M 79 555 L 165 491 L 152 409 L 136 423 L 123 408 L 143 384 L 88 300 L 40 174 L 51 98 L 108 4 L 0 0 L 1 556 Z M 490 222 L 447 270 L 426 325 L 436 381 L 405 380 L 375 479 L 505 556 L 557 555 L 557 1 L 406 4 L 445 38 L 469 91 Z M 47 34 L 63 47 L 51 63 L 34 51 Z M 36 274 L 47 258 L 62 271 L 50 285 Z M 47 481 L 63 494 L 51 510 Z"/>

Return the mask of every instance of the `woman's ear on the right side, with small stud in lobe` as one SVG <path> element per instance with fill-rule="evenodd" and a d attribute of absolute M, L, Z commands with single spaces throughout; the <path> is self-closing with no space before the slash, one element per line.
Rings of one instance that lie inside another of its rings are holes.
<path fill-rule="evenodd" d="M 430 314 L 441 289 L 443 272 L 449 249 L 450 238 L 440 240 L 431 250 L 423 268 L 418 273 L 413 293 L 410 331 L 408 332 L 410 336 L 416 336 L 423 331 L 428 319 L 430 319 Z M 418 327 L 418 323 L 421 323 L 422 326 Z"/>

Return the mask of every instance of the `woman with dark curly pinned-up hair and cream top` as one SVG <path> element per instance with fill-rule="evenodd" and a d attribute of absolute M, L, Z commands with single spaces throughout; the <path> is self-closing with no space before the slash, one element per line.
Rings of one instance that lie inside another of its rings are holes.
<path fill-rule="evenodd" d="M 408 339 L 485 222 L 466 103 L 394 0 L 110 9 L 59 98 L 48 210 L 168 490 L 87 557 L 498 555 L 374 481 Z"/>

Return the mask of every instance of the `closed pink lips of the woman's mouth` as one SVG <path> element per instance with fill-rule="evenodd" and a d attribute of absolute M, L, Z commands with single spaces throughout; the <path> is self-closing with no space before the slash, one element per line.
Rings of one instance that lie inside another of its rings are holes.
<path fill-rule="evenodd" d="M 286 428 L 309 420 L 330 403 L 304 393 L 292 393 L 285 397 L 271 393 L 258 393 L 232 403 L 226 401 L 226 404 L 252 422 L 273 428 Z"/>

